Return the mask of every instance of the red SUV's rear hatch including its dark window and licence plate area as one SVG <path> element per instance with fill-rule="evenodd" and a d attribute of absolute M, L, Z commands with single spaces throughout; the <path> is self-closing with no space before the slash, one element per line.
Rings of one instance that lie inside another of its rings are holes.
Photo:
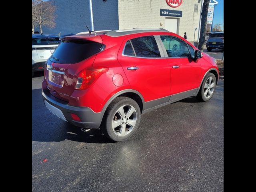
<path fill-rule="evenodd" d="M 75 35 L 63 38 L 46 62 L 45 77 L 50 93 L 68 102 L 76 87 L 76 75 L 92 66 L 101 46 L 100 36 Z"/>

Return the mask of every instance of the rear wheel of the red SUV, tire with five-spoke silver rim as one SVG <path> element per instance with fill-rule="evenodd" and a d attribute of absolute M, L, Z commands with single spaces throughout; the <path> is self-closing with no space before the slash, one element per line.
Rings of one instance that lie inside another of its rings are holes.
<path fill-rule="evenodd" d="M 136 132 L 140 124 L 140 115 L 140 107 L 136 101 L 128 97 L 117 97 L 106 109 L 101 126 L 102 132 L 116 142 L 127 140 Z"/>

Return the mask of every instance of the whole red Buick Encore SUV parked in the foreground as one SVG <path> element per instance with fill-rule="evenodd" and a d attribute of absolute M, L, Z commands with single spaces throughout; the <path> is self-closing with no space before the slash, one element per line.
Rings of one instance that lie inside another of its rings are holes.
<path fill-rule="evenodd" d="M 42 96 L 53 114 L 123 141 L 148 111 L 190 96 L 210 100 L 219 71 L 177 34 L 133 29 L 64 37 L 44 74 Z"/>

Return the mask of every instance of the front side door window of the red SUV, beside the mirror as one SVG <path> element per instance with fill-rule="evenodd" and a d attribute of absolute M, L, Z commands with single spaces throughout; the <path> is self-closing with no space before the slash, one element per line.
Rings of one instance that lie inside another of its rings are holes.
<path fill-rule="evenodd" d="M 183 40 L 174 36 L 160 36 L 168 57 L 190 57 L 188 46 Z"/>

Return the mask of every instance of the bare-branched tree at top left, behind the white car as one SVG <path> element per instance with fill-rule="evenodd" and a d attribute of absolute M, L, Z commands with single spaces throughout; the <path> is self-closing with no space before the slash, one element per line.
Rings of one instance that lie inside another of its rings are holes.
<path fill-rule="evenodd" d="M 55 6 L 50 2 L 43 2 L 42 0 L 32 0 L 32 6 L 34 3 L 34 9 L 32 8 L 32 21 L 33 15 L 36 19 L 36 23 L 39 26 L 40 33 L 43 33 L 42 26 L 47 26 L 48 28 L 54 28 L 55 23 Z M 32 24 L 33 28 L 33 24 Z M 33 29 L 32 29 L 33 30 Z"/>

